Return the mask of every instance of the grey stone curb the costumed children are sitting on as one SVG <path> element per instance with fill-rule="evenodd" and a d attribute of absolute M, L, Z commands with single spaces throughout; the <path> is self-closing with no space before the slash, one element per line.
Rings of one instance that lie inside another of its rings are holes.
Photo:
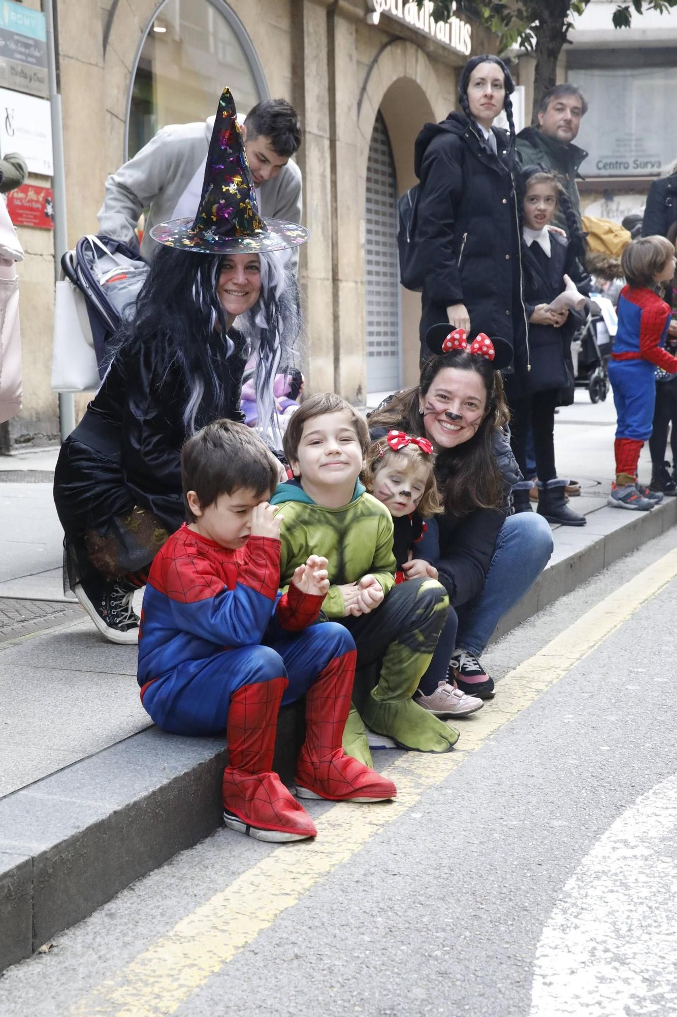
<path fill-rule="evenodd" d="M 494 640 L 677 524 L 677 498 L 628 516 L 604 506 L 580 530 L 560 528 L 552 563 Z M 285 780 L 303 725 L 301 704 L 281 712 L 273 765 Z M 150 726 L 2 798 L 0 970 L 217 829 L 225 762 L 222 738 Z"/>

